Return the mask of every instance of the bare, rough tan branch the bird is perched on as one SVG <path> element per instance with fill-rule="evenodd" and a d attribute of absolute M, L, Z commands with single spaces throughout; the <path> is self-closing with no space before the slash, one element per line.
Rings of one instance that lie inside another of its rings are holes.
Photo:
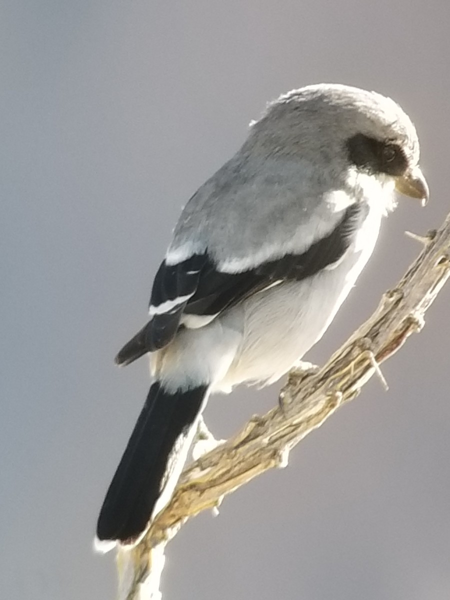
<path fill-rule="evenodd" d="M 423 248 L 374 314 L 315 373 L 292 371 L 280 406 L 253 418 L 236 436 L 184 470 L 169 505 L 132 550 L 118 550 L 121 600 L 161 598 L 164 547 L 185 521 L 220 505 L 226 494 L 272 467 L 287 464 L 290 449 L 349 400 L 373 374 L 387 386 L 380 364 L 424 325 L 424 314 L 450 275 L 450 215 L 437 231 L 410 235 Z"/>

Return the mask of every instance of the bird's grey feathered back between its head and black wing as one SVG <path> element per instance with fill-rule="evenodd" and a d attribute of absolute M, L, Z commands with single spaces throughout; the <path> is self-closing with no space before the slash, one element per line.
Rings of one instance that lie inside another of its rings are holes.
<path fill-rule="evenodd" d="M 332 232 L 353 202 L 336 209 L 332 187 L 298 157 L 233 157 L 185 205 L 166 260 L 208 251 L 233 270 L 302 253 Z"/>

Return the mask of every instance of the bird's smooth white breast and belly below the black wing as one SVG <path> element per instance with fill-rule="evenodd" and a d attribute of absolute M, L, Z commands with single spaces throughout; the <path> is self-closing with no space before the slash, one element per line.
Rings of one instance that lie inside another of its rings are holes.
<path fill-rule="evenodd" d="M 338 263 L 314 277 L 256 294 L 220 317 L 224 328 L 240 317 L 243 336 L 226 376 L 214 389 L 273 383 L 322 337 L 373 252 L 385 211 L 380 194 L 377 199 Z"/>

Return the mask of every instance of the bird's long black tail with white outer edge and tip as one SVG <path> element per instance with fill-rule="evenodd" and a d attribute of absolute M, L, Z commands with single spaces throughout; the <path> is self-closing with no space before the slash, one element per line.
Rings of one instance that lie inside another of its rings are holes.
<path fill-rule="evenodd" d="M 155 505 L 159 511 L 169 501 L 207 394 L 207 386 L 174 394 L 158 382 L 151 386 L 101 507 L 100 542 L 133 544 L 147 529 Z"/>

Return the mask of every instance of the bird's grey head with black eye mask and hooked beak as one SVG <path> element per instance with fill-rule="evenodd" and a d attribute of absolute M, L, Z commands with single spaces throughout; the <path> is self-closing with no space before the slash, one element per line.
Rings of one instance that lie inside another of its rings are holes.
<path fill-rule="evenodd" d="M 376 92 L 336 84 L 293 90 L 269 104 L 252 130 L 261 151 L 298 158 L 326 185 L 353 170 L 423 205 L 428 200 L 416 129 L 394 100 Z"/>

